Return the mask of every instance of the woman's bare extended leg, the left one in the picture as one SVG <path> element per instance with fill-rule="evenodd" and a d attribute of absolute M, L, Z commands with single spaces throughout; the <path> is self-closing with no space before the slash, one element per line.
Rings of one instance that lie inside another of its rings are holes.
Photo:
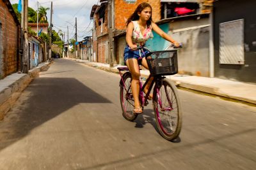
<path fill-rule="evenodd" d="M 127 59 L 126 66 L 132 74 L 131 89 L 134 98 L 134 108 L 140 108 L 139 92 L 140 92 L 140 68 L 137 59 Z"/>

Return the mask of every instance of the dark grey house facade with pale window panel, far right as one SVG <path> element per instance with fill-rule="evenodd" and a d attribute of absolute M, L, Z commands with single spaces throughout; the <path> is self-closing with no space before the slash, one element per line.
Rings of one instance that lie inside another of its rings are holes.
<path fill-rule="evenodd" d="M 255 0 L 214 2 L 215 77 L 256 83 L 255 7 Z"/>

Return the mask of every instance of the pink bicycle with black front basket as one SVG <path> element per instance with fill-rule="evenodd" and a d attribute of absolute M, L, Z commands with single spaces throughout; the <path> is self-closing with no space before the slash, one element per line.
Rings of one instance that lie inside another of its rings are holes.
<path fill-rule="evenodd" d="M 148 50 L 143 46 L 138 47 L 138 50 L 141 49 L 142 51 L 143 49 Z M 166 79 L 165 75 L 178 73 L 177 50 L 148 51 L 149 53 L 145 57 L 147 59 L 150 76 L 144 84 L 140 78 L 140 104 L 142 108 L 147 106 L 147 99 L 153 88 L 152 100 L 157 129 L 163 138 L 173 140 L 180 134 L 182 112 L 177 87 L 172 81 Z M 132 76 L 127 67 L 118 67 L 118 70 L 121 76 L 120 103 L 123 112 L 122 115 L 125 119 L 133 121 L 138 114 L 133 113 L 134 99 L 131 91 Z M 125 73 L 122 74 L 122 71 L 125 71 Z M 144 97 L 143 90 L 150 77 L 154 77 L 154 80 L 150 84 L 148 92 Z"/>

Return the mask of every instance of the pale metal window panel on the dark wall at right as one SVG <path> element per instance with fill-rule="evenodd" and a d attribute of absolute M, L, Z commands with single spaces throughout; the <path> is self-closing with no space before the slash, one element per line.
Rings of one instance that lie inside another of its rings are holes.
<path fill-rule="evenodd" d="M 220 64 L 244 64 L 244 20 L 220 24 Z"/>

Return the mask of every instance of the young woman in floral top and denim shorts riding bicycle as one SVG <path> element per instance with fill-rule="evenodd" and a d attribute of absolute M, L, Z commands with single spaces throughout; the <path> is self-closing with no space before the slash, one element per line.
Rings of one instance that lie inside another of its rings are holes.
<path fill-rule="evenodd" d="M 168 34 L 162 31 L 152 21 L 152 7 L 148 3 L 141 3 L 136 8 L 131 17 L 127 20 L 127 31 L 126 31 L 126 42 L 127 46 L 124 50 L 124 62 L 129 68 L 132 74 L 131 89 L 134 97 L 134 110 L 136 114 L 142 113 L 140 106 L 139 91 L 140 91 L 140 67 L 148 69 L 147 60 L 145 55 L 148 53 L 147 50 L 136 50 L 138 46 L 144 46 L 149 38 L 153 38 L 152 30 L 155 31 L 159 36 L 170 41 L 174 46 L 179 46 L 179 43 L 172 39 Z M 149 85 L 153 78 L 148 81 L 145 86 L 145 94 L 148 92 Z M 148 96 L 148 99 L 152 99 L 152 94 Z"/>

